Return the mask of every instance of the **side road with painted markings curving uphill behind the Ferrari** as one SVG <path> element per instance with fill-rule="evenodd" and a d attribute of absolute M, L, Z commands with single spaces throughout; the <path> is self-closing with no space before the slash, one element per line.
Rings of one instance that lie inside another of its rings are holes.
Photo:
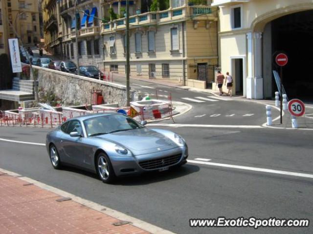
<path fill-rule="evenodd" d="M 125 78 L 114 74 L 113 81 L 125 84 Z M 241 101 L 238 98 L 226 96 L 216 97 L 209 93 L 184 90 L 142 80 L 131 79 L 131 88 L 142 94 L 150 94 L 151 98 L 181 101 L 192 105 L 188 113 L 175 117 L 181 124 L 213 124 L 213 125 L 262 125 L 266 122 L 265 104 L 251 101 Z M 279 116 L 277 109 L 272 109 L 273 118 Z M 167 121 L 170 122 L 170 121 Z"/>

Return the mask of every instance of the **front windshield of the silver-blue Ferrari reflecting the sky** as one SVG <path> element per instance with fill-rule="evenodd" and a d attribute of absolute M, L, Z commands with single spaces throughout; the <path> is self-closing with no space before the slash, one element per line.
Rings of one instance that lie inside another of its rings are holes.
<path fill-rule="evenodd" d="M 115 114 L 86 119 L 84 125 L 88 137 L 144 128 L 131 117 Z"/>

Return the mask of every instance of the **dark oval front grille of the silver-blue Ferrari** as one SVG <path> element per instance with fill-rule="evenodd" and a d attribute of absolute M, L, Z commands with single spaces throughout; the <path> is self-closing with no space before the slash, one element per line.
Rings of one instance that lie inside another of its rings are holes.
<path fill-rule="evenodd" d="M 145 170 L 152 170 L 152 169 L 174 165 L 179 162 L 180 157 L 181 157 L 181 154 L 161 157 L 157 159 L 139 162 L 139 165 Z"/>

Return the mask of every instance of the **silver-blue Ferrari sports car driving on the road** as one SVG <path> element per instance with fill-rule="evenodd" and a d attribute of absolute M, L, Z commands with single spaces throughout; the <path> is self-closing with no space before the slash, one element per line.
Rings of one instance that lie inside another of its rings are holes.
<path fill-rule="evenodd" d="M 52 166 L 78 167 L 110 183 L 116 176 L 166 171 L 185 164 L 185 140 L 171 131 L 148 129 L 146 123 L 118 113 L 68 119 L 46 136 Z"/>

